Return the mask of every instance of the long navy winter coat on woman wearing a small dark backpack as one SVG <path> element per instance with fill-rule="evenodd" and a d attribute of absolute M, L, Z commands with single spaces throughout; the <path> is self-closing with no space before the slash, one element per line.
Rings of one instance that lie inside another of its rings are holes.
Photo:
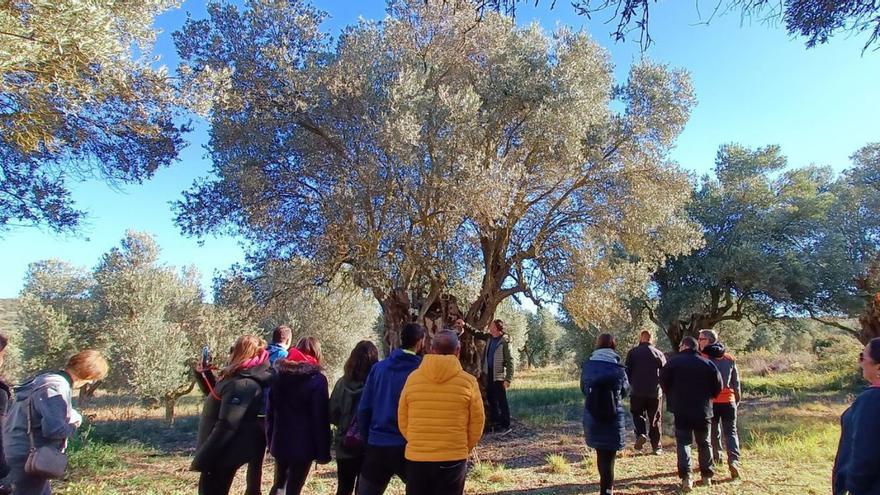
<path fill-rule="evenodd" d="M 584 435 L 587 445 L 596 450 L 622 450 L 625 444 L 623 397 L 629 393 L 629 381 L 619 361 L 620 357 L 611 349 L 599 349 L 581 371 Z M 594 414 L 597 407 L 603 406 L 607 409 L 605 415 Z"/>

